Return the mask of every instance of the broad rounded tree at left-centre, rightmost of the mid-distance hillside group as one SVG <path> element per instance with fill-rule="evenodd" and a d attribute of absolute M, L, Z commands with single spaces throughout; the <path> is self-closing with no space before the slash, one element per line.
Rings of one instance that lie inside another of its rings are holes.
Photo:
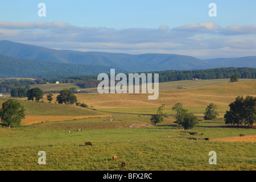
<path fill-rule="evenodd" d="M 60 91 L 59 96 L 57 96 L 56 101 L 59 104 L 75 104 L 77 102 L 77 98 L 71 90 L 63 89 Z"/>

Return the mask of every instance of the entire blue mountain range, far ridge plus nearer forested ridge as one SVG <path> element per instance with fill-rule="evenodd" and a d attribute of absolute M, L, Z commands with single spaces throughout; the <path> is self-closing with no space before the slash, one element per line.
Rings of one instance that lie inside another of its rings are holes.
<path fill-rule="evenodd" d="M 63 72 L 63 75 L 67 73 L 71 75 L 109 73 L 110 68 L 123 73 L 223 67 L 256 68 L 256 56 L 201 60 L 192 56 L 163 53 L 130 55 L 56 50 L 8 40 L 0 41 L 0 55 L 2 55 L 0 56 L 0 77 L 14 76 L 15 74 L 8 74 L 8 71 L 14 73 L 15 69 L 18 69 L 20 73 L 15 76 L 39 77 L 40 74 L 47 72 Z M 17 64 L 16 67 L 11 66 L 15 64 Z M 28 67 L 31 64 L 41 69 Z M 21 70 L 26 74 L 24 75 Z"/>

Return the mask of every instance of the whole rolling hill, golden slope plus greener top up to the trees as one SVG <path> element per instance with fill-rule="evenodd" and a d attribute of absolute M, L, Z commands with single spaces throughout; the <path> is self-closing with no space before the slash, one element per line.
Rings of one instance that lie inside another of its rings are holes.
<path fill-rule="evenodd" d="M 174 86 L 183 86 L 181 90 L 172 90 Z M 156 108 L 166 104 L 171 111 L 177 102 L 195 113 L 204 113 L 205 107 L 214 102 L 220 107 L 220 113 L 225 113 L 228 105 L 237 96 L 256 96 L 256 80 L 228 82 L 228 79 L 201 80 L 193 85 L 192 81 L 165 82 L 159 85 L 157 100 L 148 100 L 148 94 L 76 94 L 79 102 L 85 102 L 102 111 L 118 111 L 124 113 L 154 113 Z M 164 91 L 161 91 L 164 90 Z M 174 111 L 171 111 L 174 113 Z"/>

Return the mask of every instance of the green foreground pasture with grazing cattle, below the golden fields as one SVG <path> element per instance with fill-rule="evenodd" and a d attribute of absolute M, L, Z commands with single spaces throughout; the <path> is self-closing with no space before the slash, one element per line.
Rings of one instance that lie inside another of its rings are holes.
<path fill-rule="evenodd" d="M 117 121 L 88 118 L 0 128 L 0 170 L 255 170 L 255 143 L 211 141 L 255 135 L 255 129 L 226 127 L 224 119 L 216 119 L 200 121 L 188 130 L 198 134 L 190 135 L 172 122 L 149 128 L 127 127 L 148 121 L 144 115 L 139 119 L 134 114 L 113 117 Z M 67 132 L 79 128 L 83 130 Z M 206 137 L 210 140 L 202 140 Z M 84 142 L 92 142 L 92 146 Z M 46 165 L 38 164 L 39 151 L 46 152 Z M 217 152 L 217 165 L 208 163 L 209 151 Z M 117 161 L 112 160 L 113 155 Z M 120 167 L 122 162 L 125 168 Z"/>

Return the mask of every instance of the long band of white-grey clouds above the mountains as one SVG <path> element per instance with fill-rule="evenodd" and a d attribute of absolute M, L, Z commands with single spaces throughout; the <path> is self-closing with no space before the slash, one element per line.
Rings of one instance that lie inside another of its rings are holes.
<path fill-rule="evenodd" d="M 255 29 L 255 25 L 221 28 L 213 22 L 172 29 L 160 26 L 125 30 L 61 22 L 0 22 L 0 40 L 77 51 L 177 53 L 211 58 L 255 55 Z"/>

